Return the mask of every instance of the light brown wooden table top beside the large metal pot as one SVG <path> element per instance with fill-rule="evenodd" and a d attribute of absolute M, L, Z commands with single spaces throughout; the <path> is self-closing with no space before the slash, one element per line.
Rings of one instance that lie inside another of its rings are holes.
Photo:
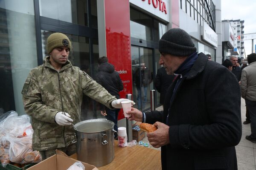
<path fill-rule="evenodd" d="M 160 150 L 139 145 L 133 147 L 118 147 L 114 140 L 115 158 L 99 170 L 161 170 Z M 76 153 L 70 156 L 77 159 Z"/>

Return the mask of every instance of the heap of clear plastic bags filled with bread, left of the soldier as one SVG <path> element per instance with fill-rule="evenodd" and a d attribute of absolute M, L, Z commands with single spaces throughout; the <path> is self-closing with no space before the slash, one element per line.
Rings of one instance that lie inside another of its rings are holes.
<path fill-rule="evenodd" d="M 39 151 L 32 150 L 32 135 L 33 129 L 28 115 L 18 116 L 17 112 L 9 111 L 0 117 L 0 153 L 4 151 L 0 155 L 0 161 L 3 166 L 10 161 L 29 164 L 42 160 Z M 1 144 L 5 146 L 6 143 L 8 147 L 1 147 Z"/>

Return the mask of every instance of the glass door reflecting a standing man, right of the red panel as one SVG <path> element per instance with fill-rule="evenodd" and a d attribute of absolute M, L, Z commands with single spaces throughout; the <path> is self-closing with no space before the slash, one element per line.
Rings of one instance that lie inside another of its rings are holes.
<path fill-rule="evenodd" d="M 150 90 L 153 87 L 153 50 L 131 46 L 131 64 L 133 79 L 133 98 L 135 108 L 148 110 L 150 108 Z"/>

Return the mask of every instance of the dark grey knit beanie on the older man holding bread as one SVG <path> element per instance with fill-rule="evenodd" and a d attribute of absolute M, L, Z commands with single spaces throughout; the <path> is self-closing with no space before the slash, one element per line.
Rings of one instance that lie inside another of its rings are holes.
<path fill-rule="evenodd" d="M 180 28 L 172 28 L 163 34 L 159 40 L 158 50 L 160 53 L 174 56 L 190 56 L 196 52 L 196 47 L 186 31 Z"/>

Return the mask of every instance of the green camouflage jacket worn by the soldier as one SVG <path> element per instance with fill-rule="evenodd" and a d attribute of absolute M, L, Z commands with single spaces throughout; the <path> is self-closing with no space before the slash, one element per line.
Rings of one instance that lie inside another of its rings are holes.
<path fill-rule="evenodd" d="M 32 116 L 33 149 L 50 150 L 67 147 L 75 139 L 75 131 L 70 126 L 60 126 L 54 121 L 55 114 L 64 111 L 70 114 L 73 124 L 80 122 L 82 94 L 113 108 L 116 99 L 78 67 L 67 63 L 56 71 L 49 63 L 29 72 L 23 90 L 23 105 Z"/>

